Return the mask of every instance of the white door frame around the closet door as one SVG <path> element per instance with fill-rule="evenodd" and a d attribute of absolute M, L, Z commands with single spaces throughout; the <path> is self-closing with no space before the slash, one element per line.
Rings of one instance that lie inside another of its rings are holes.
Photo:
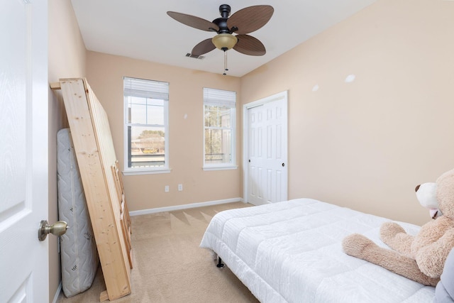
<path fill-rule="evenodd" d="M 288 162 L 289 162 L 289 130 L 288 130 L 288 124 L 289 124 L 289 113 L 288 113 L 288 107 L 289 107 L 289 97 L 288 97 L 288 91 L 283 91 L 279 92 L 277 94 L 273 94 L 269 97 L 265 97 L 262 99 L 258 99 L 256 101 L 252 101 L 247 104 L 243 104 L 243 202 L 248 203 L 248 195 L 249 195 L 249 165 L 248 165 L 248 146 L 249 146 L 249 121 L 248 121 L 248 110 L 253 109 L 254 107 L 257 106 L 262 106 L 264 104 L 273 102 L 273 101 L 279 101 L 279 100 L 285 100 L 285 123 L 284 123 L 284 128 L 285 128 L 285 134 L 287 136 L 286 138 L 286 145 L 285 145 L 285 150 L 284 150 L 284 155 L 285 158 L 287 159 L 287 176 L 286 176 L 286 187 L 287 190 L 285 191 L 285 200 L 288 199 L 288 183 L 289 183 L 289 169 L 288 169 Z"/>

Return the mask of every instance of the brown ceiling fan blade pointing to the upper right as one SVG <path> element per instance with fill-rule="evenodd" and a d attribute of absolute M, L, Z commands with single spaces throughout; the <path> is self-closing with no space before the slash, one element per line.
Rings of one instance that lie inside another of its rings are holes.
<path fill-rule="evenodd" d="M 249 6 L 245 9 L 240 9 L 227 19 L 228 28 L 238 28 L 235 33 L 243 35 L 257 31 L 262 26 L 270 21 L 272 13 L 275 9 L 270 5 Z"/>

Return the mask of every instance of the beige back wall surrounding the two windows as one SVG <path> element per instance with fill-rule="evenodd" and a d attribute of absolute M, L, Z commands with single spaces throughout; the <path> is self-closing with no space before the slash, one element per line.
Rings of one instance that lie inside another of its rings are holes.
<path fill-rule="evenodd" d="M 121 168 L 124 167 L 123 76 L 170 83 L 169 162 L 172 171 L 156 175 L 123 176 L 129 211 L 240 197 L 238 181 L 240 169 L 202 170 L 204 148 L 202 89 L 203 87 L 226 89 L 239 94 L 240 79 L 127 57 L 87 52 L 87 80 L 109 117 L 116 157 Z M 239 110 L 238 106 L 238 115 Z M 239 123 L 238 119 L 238 126 Z M 240 142 L 239 127 L 237 133 Z M 183 184 L 182 192 L 177 191 L 177 184 Z M 170 186 L 170 192 L 164 192 L 165 185 Z"/>

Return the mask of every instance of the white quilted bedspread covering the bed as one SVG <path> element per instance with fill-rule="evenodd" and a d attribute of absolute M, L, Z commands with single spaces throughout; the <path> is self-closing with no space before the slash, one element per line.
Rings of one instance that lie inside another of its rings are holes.
<path fill-rule="evenodd" d="M 341 242 L 362 233 L 380 246 L 384 219 L 314 199 L 222 211 L 202 248 L 222 258 L 260 302 L 431 302 L 421 285 L 343 253 Z M 399 222 L 408 233 L 419 226 Z"/>

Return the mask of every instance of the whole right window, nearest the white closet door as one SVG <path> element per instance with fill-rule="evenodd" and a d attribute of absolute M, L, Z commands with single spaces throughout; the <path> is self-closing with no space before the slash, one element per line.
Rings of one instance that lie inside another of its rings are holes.
<path fill-rule="evenodd" d="M 204 169 L 236 168 L 236 92 L 204 88 Z"/>

